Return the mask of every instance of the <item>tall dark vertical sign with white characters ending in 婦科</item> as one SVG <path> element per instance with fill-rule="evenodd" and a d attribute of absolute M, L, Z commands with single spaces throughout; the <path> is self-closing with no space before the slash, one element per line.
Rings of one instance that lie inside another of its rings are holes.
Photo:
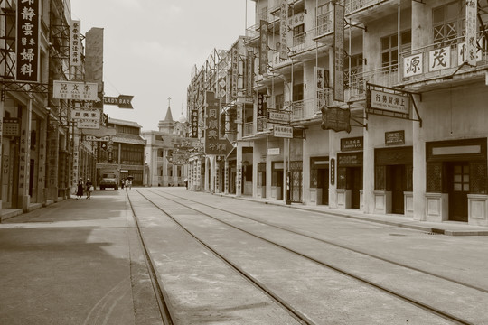
<path fill-rule="evenodd" d="M 38 81 L 39 72 L 39 0 L 17 1 L 18 81 Z"/>

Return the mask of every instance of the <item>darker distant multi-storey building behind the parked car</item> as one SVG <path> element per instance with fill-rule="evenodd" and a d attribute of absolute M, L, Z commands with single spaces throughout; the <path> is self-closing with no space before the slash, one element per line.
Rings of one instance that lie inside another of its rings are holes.
<path fill-rule="evenodd" d="M 97 184 L 103 173 L 113 172 L 120 181 L 132 176 L 133 186 L 144 183 L 145 139 L 141 137 L 141 125 L 136 122 L 108 118 L 108 127 L 117 134 L 108 142 L 99 142 Z"/>

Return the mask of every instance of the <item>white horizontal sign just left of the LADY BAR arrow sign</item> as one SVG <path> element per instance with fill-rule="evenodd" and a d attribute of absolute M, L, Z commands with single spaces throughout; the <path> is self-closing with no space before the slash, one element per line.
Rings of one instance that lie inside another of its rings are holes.
<path fill-rule="evenodd" d="M 54 80 L 52 98 L 98 100 L 97 84 L 94 82 Z"/>

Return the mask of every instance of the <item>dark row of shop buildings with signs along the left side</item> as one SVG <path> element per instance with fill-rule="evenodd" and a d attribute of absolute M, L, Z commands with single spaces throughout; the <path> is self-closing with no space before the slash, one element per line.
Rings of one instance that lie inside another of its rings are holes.
<path fill-rule="evenodd" d="M 70 1 L 0 2 L 2 210 L 67 199 L 76 178 L 94 174 L 94 147 L 75 140 L 71 118 L 85 103 L 52 91 L 55 81 L 84 80 L 84 61 L 70 60 L 80 32 L 70 12 Z"/>

